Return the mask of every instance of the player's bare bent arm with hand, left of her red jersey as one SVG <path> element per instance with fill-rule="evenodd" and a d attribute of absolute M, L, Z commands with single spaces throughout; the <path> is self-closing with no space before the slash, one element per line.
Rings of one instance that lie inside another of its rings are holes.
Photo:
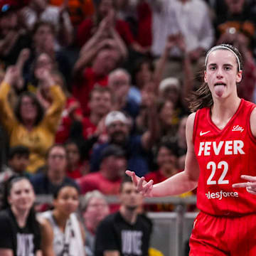
<path fill-rule="evenodd" d="M 153 181 L 146 183 L 144 177 L 135 176 L 134 172 L 127 171 L 127 175 L 132 176 L 137 190 L 142 192 L 144 196 L 174 196 L 187 191 L 191 191 L 197 187 L 199 177 L 199 166 L 193 147 L 193 123 L 196 114 L 190 114 L 186 123 L 186 142 L 188 146 L 185 169 L 171 178 L 153 186 Z"/>

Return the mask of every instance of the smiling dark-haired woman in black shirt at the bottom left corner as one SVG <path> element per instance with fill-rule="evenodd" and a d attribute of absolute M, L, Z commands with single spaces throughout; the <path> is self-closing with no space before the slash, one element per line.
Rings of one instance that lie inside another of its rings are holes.
<path fill-rule="evenodd" d="M 13 178 L 9 208 L 0 212 L 0 255 L 41 256 L 41 229 L 33 211 L 35 194 L 27 178 Z"/>

